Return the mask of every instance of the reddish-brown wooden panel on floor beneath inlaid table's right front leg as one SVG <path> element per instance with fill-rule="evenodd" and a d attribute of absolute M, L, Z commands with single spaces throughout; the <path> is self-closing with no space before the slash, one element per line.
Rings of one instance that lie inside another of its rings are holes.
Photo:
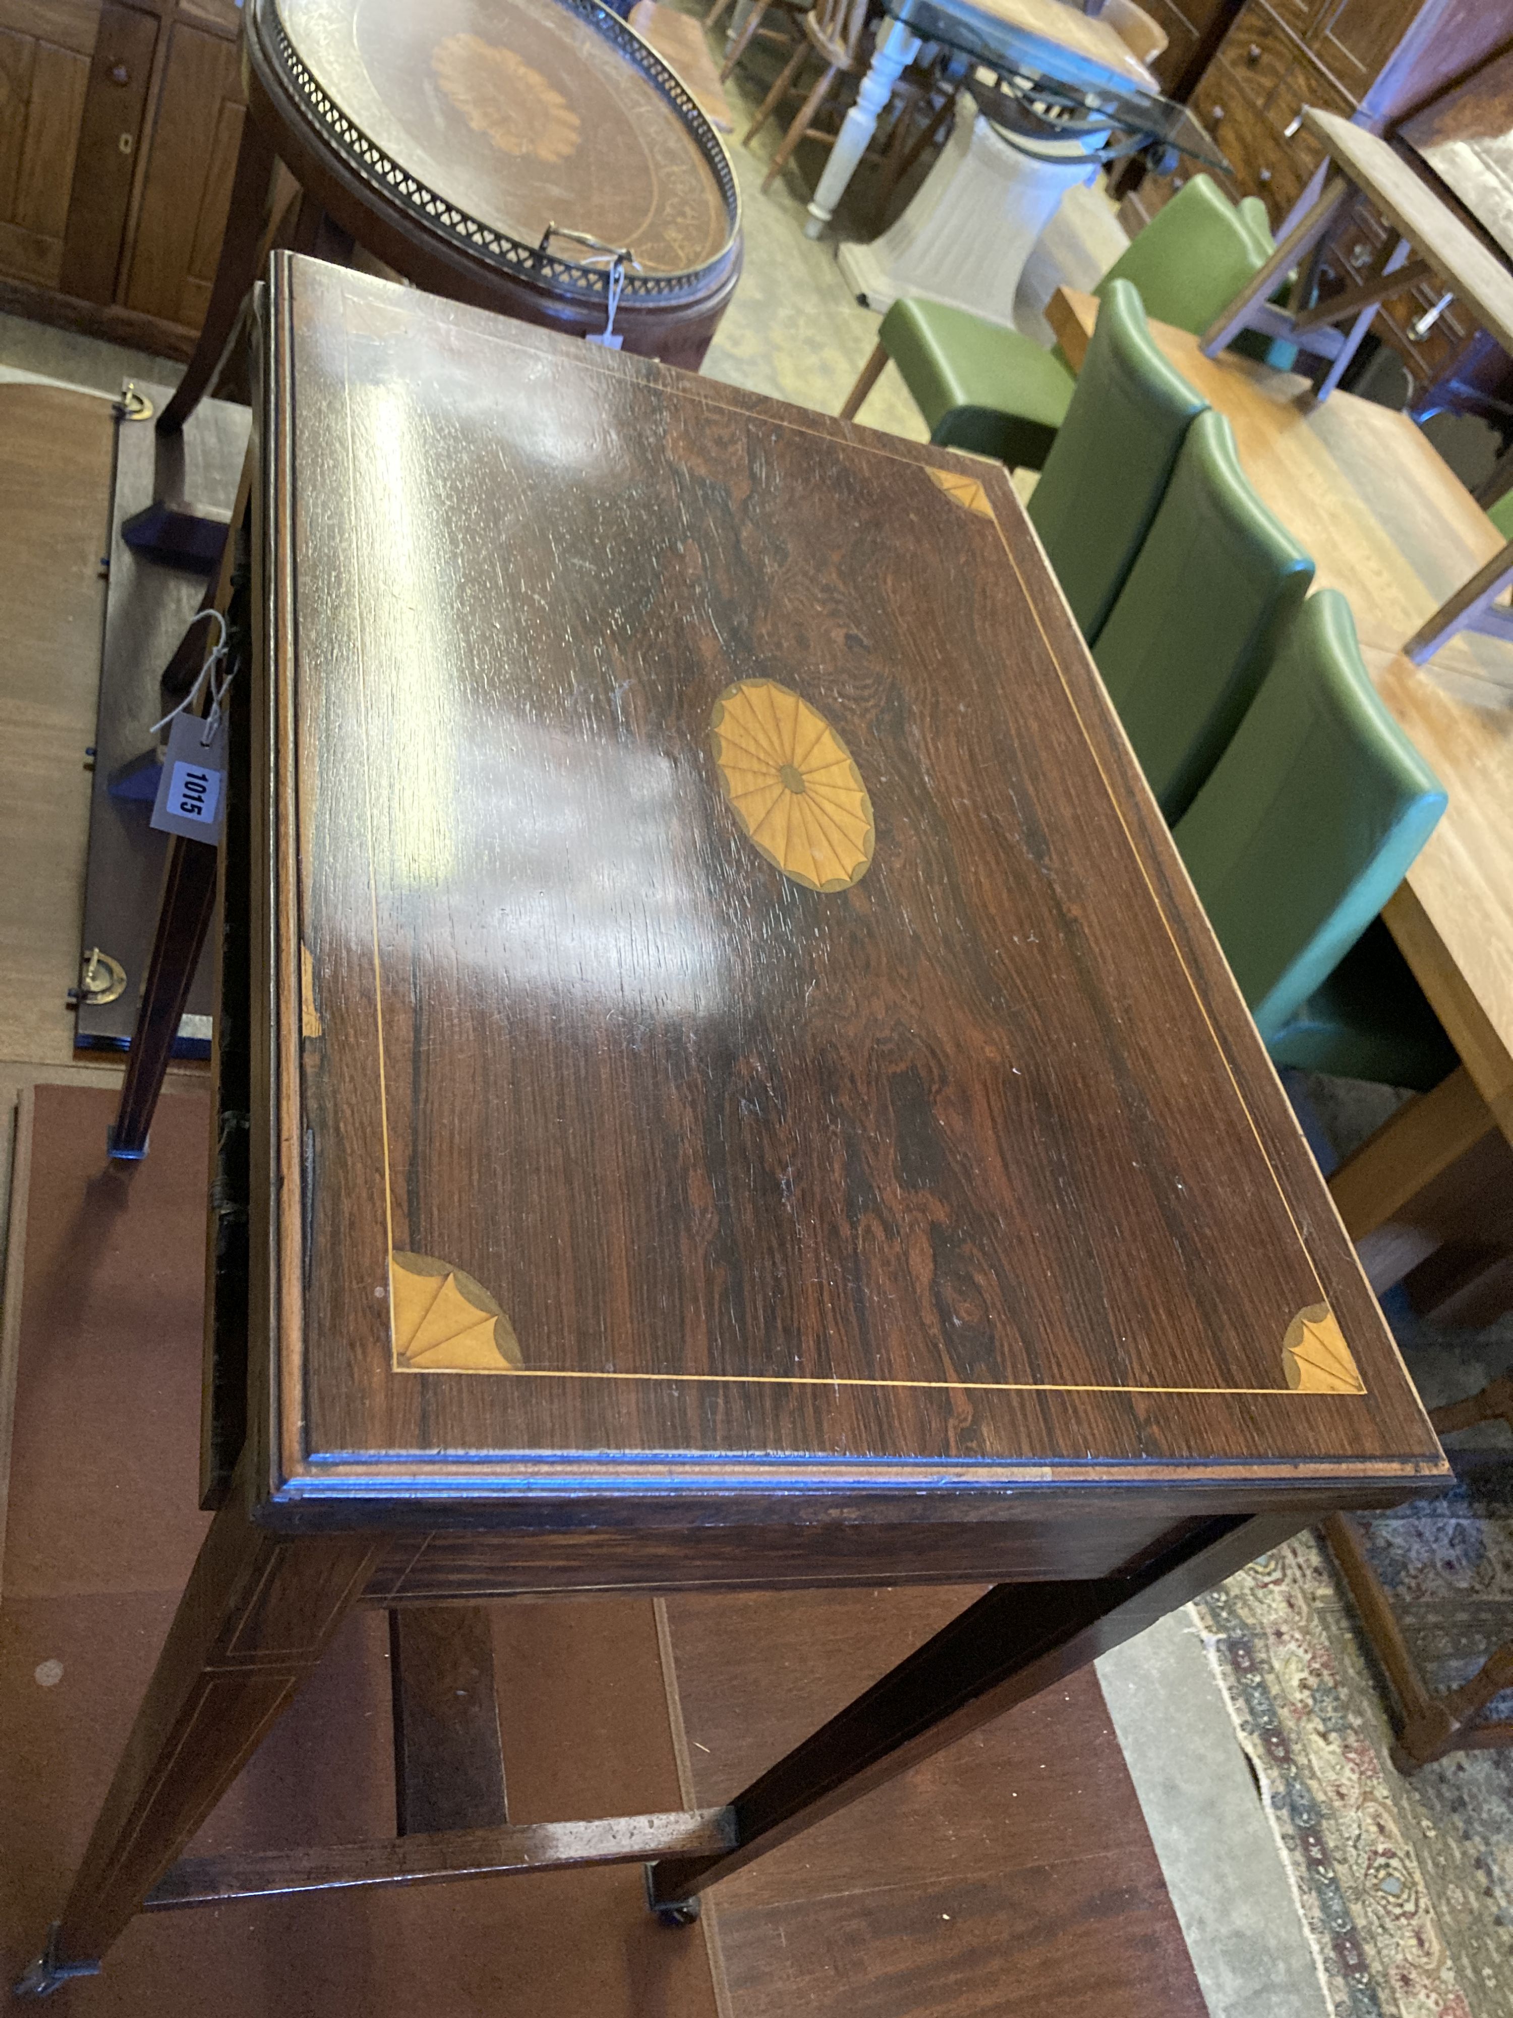
<path fill-rule="evenodd" d="M 738 1792 L 974 1594 L 668 1600 L 694 1798 Z M 1091 1669 L 708 1899 L 738 2018 L 1204 2014 Z"/>

